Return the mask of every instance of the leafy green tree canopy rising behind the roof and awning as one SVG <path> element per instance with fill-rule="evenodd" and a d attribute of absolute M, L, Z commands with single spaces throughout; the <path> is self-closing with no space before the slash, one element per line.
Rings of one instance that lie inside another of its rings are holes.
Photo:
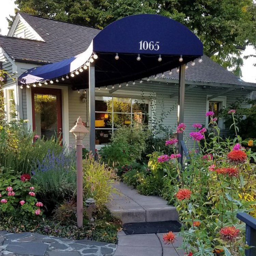
<path fill-rule="evenodd" d="M 16 0 L 21 12 L 102 29 L 138 13 L 173 18 L 203 42 L 204 54 L 239 74 L 247 45 L 256 48 L 254 0 Z M 168 32 L 168 31 L 167 31 Z"/>

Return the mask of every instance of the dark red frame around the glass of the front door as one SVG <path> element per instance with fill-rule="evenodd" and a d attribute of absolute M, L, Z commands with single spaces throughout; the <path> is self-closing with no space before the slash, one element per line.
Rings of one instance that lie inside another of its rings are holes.
<path fill-rule="evenodd" d="M 61 89 L 53 88 L 31 88 L 31 98 L 32 98 L 32 128 L 35 131 L 35 102 L 34 94 L 49 94 L 55 95 L 57 98 L 57 129 L 58 135 L 61 133 L 60 140 L 62 141 L 62 103 L 61 103 Z"/>

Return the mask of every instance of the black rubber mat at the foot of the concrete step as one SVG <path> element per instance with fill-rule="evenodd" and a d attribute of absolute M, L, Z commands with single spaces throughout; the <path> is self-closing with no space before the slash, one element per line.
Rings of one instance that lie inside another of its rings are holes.
<path fill-rule="evenodd" d="M 123 225 L 123 230 L 126 234 L 180 232 L 181 224 L 177 221 L 126 223 Z"/>

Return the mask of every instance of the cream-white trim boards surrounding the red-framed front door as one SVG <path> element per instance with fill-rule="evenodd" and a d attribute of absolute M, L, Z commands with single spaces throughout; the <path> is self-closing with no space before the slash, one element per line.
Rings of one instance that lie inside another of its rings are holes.
<path fill-rule="evenodd" d="M 69 103 L 68 103 L 68 86 L 48 85 L 41 88 L 61 89 L 61 114 L 62 114 L 62 138 L 63 144 L 69 146 Z M 32 130 L 32 96 L 31 87 L 26 88 L 27 94 L 27 116 L 28 130 Z"/>

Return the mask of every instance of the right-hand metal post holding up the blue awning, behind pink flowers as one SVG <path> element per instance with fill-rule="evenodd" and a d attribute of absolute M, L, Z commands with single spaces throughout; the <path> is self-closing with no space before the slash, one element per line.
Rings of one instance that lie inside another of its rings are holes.
<path fill-rule="evenodd" d="M 184 101 L 185 101 L 185 70 L 186 64 L 180 65 L 180 72 L 179 72 L 179 94 L 178 94 L 178 125 L 184 123 Z M 183 165 L 183 148 L 182 148 L 182 141 L 183 141 L 183 133 L 177 134 L 178 138 L 178 153 L 181 154 L 179 158 L 179 162 L 181 166 Z"/>

